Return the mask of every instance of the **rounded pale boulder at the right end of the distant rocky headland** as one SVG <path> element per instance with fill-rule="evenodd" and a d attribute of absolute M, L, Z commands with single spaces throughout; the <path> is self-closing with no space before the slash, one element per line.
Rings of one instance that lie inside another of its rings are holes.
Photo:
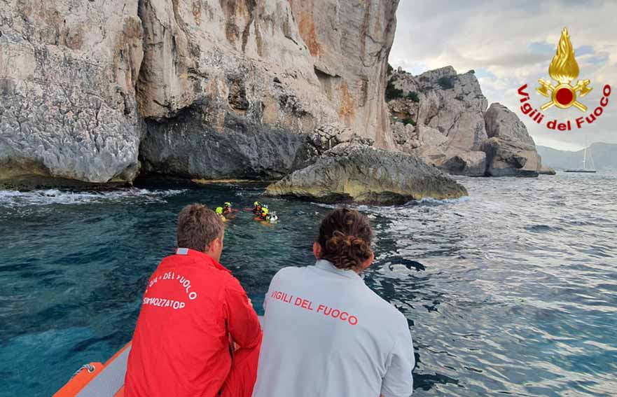
<path fill-rule="evenodd" d="M 489 176 L 538 176 L 540 156 L 534 139 L 518 116 L 501 104 L 491 104 L 485 114 L 489 139 L 486 153 Z"/>

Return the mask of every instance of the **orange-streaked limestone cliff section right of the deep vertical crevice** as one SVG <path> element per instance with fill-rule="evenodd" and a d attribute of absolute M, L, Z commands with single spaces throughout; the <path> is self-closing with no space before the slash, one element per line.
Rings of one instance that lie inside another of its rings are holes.
<path fill-rule="evenodd" d="M 148 171 L 272 178 L 350 128 L 391 148 L 396 1 L 143 1 Z M 369 122 L 369 120 L 371 120 Z"/>

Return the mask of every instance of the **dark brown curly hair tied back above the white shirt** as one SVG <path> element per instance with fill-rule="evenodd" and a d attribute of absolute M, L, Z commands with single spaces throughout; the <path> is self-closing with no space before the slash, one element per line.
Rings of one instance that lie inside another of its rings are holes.
<path fill-rule="evenodd" d="M 372 240 L 373 229 L 365 215 L 352 209 L 336 209 L 319 226 L 320 259 L 329 260 L 339 269 L 359 271 L 373 254 Z"/>

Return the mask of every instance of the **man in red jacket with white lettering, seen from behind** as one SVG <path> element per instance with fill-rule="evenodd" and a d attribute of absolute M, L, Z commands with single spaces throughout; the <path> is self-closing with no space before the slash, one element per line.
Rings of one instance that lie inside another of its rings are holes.
<path fill-rule="evenodd" d="M 181 211 L 179 248 L 158 265 L 141 302 L 126 397 L 251 396 L 261 327 L 240 282 L 219 263 L 224 230 L 203 205 Z"/>

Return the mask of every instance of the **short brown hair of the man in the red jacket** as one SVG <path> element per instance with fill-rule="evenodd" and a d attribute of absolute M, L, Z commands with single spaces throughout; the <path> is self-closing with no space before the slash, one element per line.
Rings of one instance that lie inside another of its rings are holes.
<path fill-rule="evenodd" d="M 190 204 L 178 216 L 178 246 L 204 251 L 217 237 L 223 237 L 225 223 L 202 204 Z"/>

